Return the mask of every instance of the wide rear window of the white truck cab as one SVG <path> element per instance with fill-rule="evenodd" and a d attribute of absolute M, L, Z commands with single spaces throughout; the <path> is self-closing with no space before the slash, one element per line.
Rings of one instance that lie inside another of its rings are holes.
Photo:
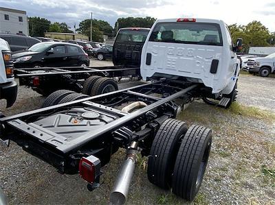
<path fill-rule="evenodd" d="M 221 28 L 217 23 L 157 23 L 149 41 L 222 46 Z"/>

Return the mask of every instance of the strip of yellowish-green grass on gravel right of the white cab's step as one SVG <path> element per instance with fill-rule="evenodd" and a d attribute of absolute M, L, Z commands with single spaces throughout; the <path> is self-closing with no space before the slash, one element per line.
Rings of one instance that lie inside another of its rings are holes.
<path fill-rule="evenodd" d="M 232 103 L 228 111 L 232 112 L 233 114 L 241 114 L 243 116 L 255 117 L 258 119 L 275 119 L 275 114 L 272 112 L 250 106 L 243 106 L 238 102 Z"/>

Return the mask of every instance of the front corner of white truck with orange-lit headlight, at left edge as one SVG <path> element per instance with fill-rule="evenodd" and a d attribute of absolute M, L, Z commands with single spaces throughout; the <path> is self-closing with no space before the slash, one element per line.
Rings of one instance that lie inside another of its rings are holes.
<path fill-rule="evenodd" d="M 2 38 L 0 38 L 0 53 L 0 99 L 6 99 L 8 108 L 17 99 L 17 83 L 14 81 L 10 46 Z"/>

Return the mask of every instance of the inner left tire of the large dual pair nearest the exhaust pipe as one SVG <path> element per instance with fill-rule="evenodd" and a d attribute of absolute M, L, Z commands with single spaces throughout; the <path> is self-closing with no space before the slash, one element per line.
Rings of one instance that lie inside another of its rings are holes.
<path fill-rule="evenodd" d="M 166 119 L 157 131 L 148 158 L 148 180 L 162 189 L 171 184 L 175 158 L 179 149 L 179 139 L 188 130 L 186 123 L 176 119 Z"/>

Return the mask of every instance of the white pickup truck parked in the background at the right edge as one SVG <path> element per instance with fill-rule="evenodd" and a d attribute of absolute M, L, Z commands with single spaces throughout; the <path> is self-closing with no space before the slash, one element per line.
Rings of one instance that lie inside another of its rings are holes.
<path fill-rule="evenodd" d="M 259 73 L 262 77 L 267 77 L 270 73 L 275 72 L 275 53 L 263 58 L 251 58 L 243 70 L 249 73 Z"/>

